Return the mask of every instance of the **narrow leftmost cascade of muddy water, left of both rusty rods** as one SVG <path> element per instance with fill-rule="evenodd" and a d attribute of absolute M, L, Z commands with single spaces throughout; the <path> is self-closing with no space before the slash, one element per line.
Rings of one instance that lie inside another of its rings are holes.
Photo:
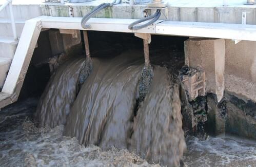
<path fill-rule="evenodd" d="M 40 126 L 65 124 L 70 105 L 76 98 L 77 80 L 85 59 L 77 58 L 61 65 L 52 75 L 36 108 Z"/>

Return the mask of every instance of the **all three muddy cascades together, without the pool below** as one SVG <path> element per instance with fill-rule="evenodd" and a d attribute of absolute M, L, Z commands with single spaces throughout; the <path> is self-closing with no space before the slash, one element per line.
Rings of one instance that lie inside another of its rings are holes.
<path fill-rule="evenodd" d="M 83 62 L 73 60 L 55 72 L 36 110 L 40 125 L 65 124 L 64 135 L 80 144 L 128 148 L 151 163 L 179 165 L 186 144 L 179 86 L 168 70 L 153 66 L 150 84 L 143 84 L 147 70 L 140 53 L 92 58 L 76 96 Z"/>

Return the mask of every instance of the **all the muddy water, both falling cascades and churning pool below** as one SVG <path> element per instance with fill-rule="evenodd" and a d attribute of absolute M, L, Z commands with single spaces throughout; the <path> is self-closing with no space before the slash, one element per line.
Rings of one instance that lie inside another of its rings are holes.
<path fill-rule="evenodd" d="M 150 87 L 137 106 L 141 55 L 93 58 L 79 92 L 84 59 L 70 60 L 51 77 L 38 103 L 28 99 L 3 109 L 0 165 L 175 166 L 182 155 L 188 166 L 256 165 L 256 143 L 233 137 L 188 137 L 183 154 L 179 86 L 170 69 L 153 64 Z M 32 122 L 35 110 L 42 127 Z"/>

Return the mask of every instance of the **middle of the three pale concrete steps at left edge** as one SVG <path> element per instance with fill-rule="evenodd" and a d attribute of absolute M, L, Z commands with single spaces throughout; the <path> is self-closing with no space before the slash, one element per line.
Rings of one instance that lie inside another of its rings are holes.
<path fill-rule="evenodd" d="M 12 60 L 17 44 L 18 41 L 14 41 L 12 37 L 0 36 L 0 57 Z"/>

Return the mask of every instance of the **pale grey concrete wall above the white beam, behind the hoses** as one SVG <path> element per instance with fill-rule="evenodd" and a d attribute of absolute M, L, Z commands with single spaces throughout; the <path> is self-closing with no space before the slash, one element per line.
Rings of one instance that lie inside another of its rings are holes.
<path fill-rule="evenodd" d="M 83 17 L 100 2 L 91 4 L 76 5 L 70 4 L 63 6 L 60 4 L 42 5 L 44 15 L 65 16 L 68 17 L 68 9 L 73 9 L 74 17 Z M 130 6 L 128 4 L 116 5 L 112 8 L 106 8 L 95 15 L 95 17 L 105 18 L 142 18 L 143 5 Z M 152 11 L 153 12 L 153 11 Z M 182 7 L 169 6 L 161 15 L 161 20 L 183 21 L 183 22 L 208 22 L 208 23 L 234 23 L 242 24 L 242 13 L 246 12 L 246 24 L 256 24 L 256 8 L 251 6 L 242 7 Z M 151 13 L 149 13 L 151 14 Z"/>

